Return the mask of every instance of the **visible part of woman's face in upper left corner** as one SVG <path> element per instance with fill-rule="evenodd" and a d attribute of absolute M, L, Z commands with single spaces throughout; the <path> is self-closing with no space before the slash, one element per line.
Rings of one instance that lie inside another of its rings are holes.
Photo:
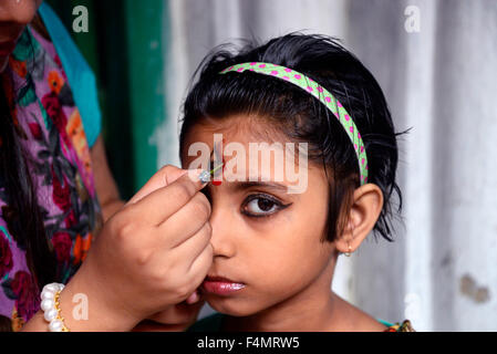
<path fill-rule="evenodd" d="M 9 55 L 27 24 L 37 14 L 42 0 L 1 0 L 0 1 L 0 73 L 9 62 Z"/>

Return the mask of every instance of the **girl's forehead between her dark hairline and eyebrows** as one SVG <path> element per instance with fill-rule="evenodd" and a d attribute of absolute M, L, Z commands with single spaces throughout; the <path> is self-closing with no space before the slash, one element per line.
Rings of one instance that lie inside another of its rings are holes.
<path fill-rule="evenodd" d="M 283 183 L 292 194 L 307 188 L 307 144 L 291 140 L 257 118 L 235 116 L 197 124 L 182 150 L 184 168 L 222 167 L 226 181 Z M 224 166 L 219 166 L 221 163 Z"/>

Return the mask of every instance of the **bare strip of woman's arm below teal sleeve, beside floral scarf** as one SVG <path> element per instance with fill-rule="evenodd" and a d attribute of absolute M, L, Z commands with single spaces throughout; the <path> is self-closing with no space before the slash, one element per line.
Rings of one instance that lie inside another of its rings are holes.
<path fill-rule="evenodd" d="M 124 206 L 124 201 L 121 200 L 114 177 L 108 168 L 102 135 L 99 135 L 95 144 L 92 146 L 91 156 L 96 195 L 102 206 L 104 221 L 106 221 Z"/>

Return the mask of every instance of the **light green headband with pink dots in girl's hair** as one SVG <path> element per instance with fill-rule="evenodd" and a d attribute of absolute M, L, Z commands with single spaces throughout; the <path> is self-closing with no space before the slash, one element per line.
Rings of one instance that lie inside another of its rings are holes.
<path fill-rule="evenodd" d="M 328 110 L 333 113 L 354 145 L 355 155 L 359 160 L 359 171 L 361 174 L 361 186 L 367 181 L 367 157 L 364 143 L 361 138 L 361 133 L 359 133 L 358 127 L 342 104 L 327 88 L 294 70 L 271 63 L 252 62 L 237 64 L 225 69 L 220 72 L 220 74 L 226 74 L 229 72 L 242 73 L 246 70 L 288 81 L 321 101 Z"/>

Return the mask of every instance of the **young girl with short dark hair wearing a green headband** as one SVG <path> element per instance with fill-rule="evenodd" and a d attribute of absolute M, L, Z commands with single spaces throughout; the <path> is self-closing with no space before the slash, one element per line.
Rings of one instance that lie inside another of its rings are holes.
<path fill-rule="evenodd" d="M 222 48 L 199 69 L 184 105 L 180 157 L 188 168 L 209 163 L 198 155 L 204 144 L 221 162 L 204 189 L 214 260 L 201 285 L 219 313 L 189 330 L 411 331 L 408 321 L 376 320 L 331 290 L 339 254 L 354 252 L 371 230 L 393 240 L 393 192 L 402 209 L 398 134 L 373 75 L 334 39 L 300 33 Z M 287 143 L 300 143 L 297 156 L 278 155 L 291 150 Z M 260 164 L 253 144 L 266 156 Z M 288 166 L 306 171 L 303 184 Z"/>

